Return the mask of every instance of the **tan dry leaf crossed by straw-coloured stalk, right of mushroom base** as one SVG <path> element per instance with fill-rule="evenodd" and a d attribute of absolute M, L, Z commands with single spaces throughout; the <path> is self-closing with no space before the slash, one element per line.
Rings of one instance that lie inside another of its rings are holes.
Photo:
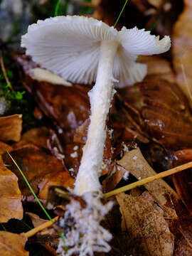
<path fill-rule="evenodd" d="M 156 174 L 144 159 L 139 148 L 124 154 L 123 158 L 117 161 L 117 164 L 124 167 L 124 169 L 127 169 L 130 174 L 138 179 L 147 178 Z M 144 187 L 149 191 L 151 196 L 153 196 L 154 201 L 161 206 L 167 217 L 176 217 L 176 212 L 169 196 L 172 195 L 177 198 L 177 194 L 165 181 L 159 179 L 157 181 L 146 183 Z"/>

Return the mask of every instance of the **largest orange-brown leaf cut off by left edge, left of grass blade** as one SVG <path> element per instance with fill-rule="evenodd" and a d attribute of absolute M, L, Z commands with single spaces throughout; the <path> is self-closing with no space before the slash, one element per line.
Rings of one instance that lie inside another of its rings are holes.
<path fill-rule="evenodd" d="M 11 151 L 11 146 L 0 142 L 0 154 Z M 4 166 L 0 156 L 0 223 L 6 223 L 11 218 L 23 218 L 21 191 L 18 188 L 18 178 Z"/>

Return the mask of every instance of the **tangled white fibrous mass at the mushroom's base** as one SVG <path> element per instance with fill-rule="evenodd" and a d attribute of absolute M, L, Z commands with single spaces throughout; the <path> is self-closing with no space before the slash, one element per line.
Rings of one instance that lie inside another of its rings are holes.
<path fill-rule="evenodd" d="M 94 252 L 109 252 L 111 249 L 107 242 L 112 235 L 102 228 L 100 222 L 112 209 L 112 201 L 104 205 L 100 194 L 92 192 L 85 193 L 82 198 L 85 203 L 72 199 L 60 220 L 65 244 L 60 238 L 57 252 L 62 256 L 93 256 Z"/>

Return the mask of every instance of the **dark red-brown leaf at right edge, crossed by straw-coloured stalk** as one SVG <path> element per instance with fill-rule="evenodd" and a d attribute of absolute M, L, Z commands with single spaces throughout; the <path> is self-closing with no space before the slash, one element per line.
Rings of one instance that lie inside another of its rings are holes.
<path fill-rule="evenodd" d="M 192 149 L 176 151 L 175 156 L 174 166 L 186 164 L 192 161 Z M 178 195 L 181 197 L 183 203 L 185 203 L 189 213 L 192 214 L 192 170 L 187 169 L 178 174 L 174 174 L 173 181 Z"/>

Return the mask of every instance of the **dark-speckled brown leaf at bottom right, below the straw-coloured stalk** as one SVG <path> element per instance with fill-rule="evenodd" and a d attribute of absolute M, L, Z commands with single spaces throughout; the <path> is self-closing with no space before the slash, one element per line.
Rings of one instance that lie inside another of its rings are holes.
<path fill-rule="evenodd" d="M 154 205 L 142 196 L 119 194 L 122 229 L 129 233 L 133 256 L 172 256 L 174 235 Z"/>

